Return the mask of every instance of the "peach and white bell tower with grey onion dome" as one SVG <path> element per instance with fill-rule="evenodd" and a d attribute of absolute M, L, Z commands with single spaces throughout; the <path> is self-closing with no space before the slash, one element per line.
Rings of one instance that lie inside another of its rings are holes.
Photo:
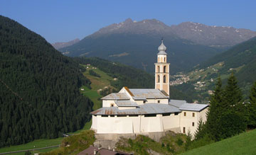
<path fill-rule="evenodd" d="M 169 63 L 167 63 L 167 53 L 164 41 L 161 40 L 161 45 L 158 48 L 157 63 L 155 63 L 155 88 L 160 91 L 165 91 L 169 95 Z"/>

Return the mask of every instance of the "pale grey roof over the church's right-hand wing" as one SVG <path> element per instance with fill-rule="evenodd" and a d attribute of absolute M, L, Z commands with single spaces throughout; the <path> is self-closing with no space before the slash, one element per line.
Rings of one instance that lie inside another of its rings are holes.
<path fill-rule="evenodd" d="M 187 110 L 187 111 L 201 111 L 208 107 L 207 104 L 196 104 L 196 103 L 187 103 L 183 100 L 170 100 L 169 105 L 173 105 L 179 110 Z"/>

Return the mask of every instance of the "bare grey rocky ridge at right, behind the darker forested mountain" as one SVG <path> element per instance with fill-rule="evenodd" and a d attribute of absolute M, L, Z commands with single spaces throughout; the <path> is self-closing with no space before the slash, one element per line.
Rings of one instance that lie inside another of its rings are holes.
<path fill-rule="evenodd" d="M 256 32 L 244 28 L 209 26 L 193 22 L 171 25 L 171 30 L 180 38 L 211 47 L 231 47 L 256 36 Z"/>

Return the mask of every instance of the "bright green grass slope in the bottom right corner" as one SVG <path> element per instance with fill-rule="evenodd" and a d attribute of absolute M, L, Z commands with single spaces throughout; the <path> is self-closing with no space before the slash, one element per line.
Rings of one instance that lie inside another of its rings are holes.
<path fill-rule="evenodd" d="M 256 130 L 183 153 L 190 154 L 256 154 Z"/>

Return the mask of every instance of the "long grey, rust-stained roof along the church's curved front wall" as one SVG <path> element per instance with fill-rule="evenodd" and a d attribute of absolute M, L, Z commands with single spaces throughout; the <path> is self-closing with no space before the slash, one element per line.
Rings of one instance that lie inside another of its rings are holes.
<path fill-rule="evenodd" d="M 144 114 L 161 114 L 161 113 L 179 113 L 181 110 L 173 105 L 161 103 L 146 103 L 139 105 L 138 108 L 119 110 L 117 107 L 103 107 L 92 111 L 92 115 L 144 115 Z"/>

